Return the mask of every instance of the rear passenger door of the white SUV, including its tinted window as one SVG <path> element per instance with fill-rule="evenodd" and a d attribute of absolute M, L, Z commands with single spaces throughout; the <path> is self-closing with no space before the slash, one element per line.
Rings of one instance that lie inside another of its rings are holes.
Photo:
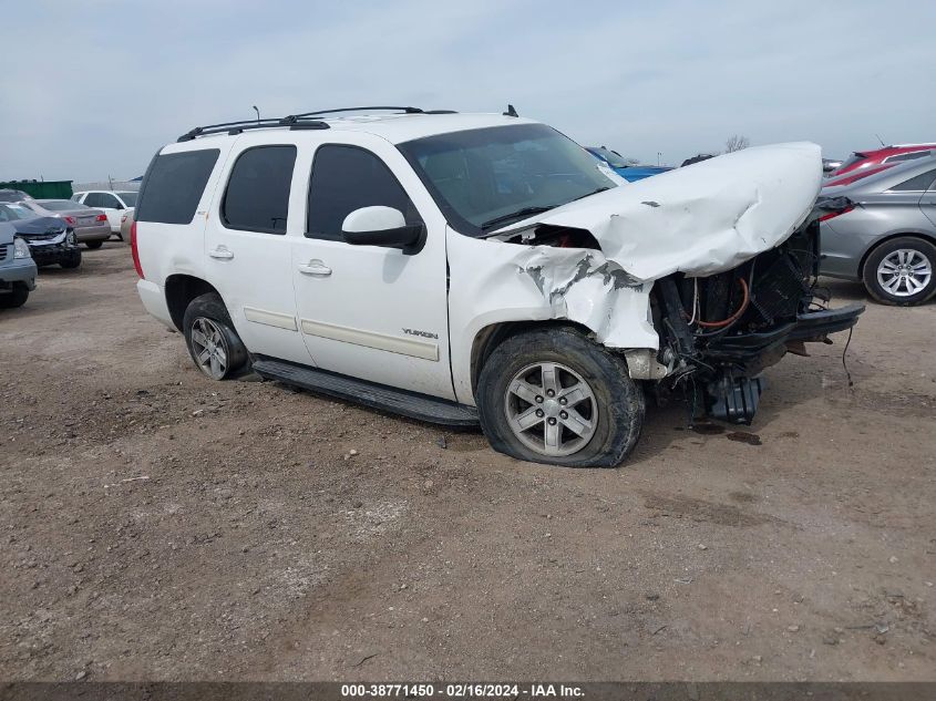
<path fill-rule="evenodd" d="M 298 148 L 288 134 L 266 142 L 241 136 L 225 164 L 205 227 L 207 277 L 247 350 L 312 364 L 296 319 L 287 235 L 302 230 L 307 176 L 294 187 Z"/>

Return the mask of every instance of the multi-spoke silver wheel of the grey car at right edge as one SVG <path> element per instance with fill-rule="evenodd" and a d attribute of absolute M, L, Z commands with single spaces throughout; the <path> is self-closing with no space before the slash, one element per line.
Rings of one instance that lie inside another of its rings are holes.
<path fill-rule="evenodd" d="M 864 285 L 885 305 L 925 302 L 936 292 L 936 246 L 913 236 L 884 241 L 864 264 Z"/>

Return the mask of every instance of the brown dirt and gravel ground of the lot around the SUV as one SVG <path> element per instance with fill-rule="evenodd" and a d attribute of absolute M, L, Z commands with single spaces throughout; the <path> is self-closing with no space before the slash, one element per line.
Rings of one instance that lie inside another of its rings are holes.
<path fill-rule="evenodd" d="M 936 679 L 936 305 L 574 471 L 212 383 L 84 260 L 0 313 L 2 679 Z"/>

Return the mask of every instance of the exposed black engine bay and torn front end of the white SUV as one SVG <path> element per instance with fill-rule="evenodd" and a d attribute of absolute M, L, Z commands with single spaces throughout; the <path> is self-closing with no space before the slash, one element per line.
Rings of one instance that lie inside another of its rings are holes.
<path fill-rule="evenodd" d="M 709 277 L 681 272 L 656 281 L 661 390 L 682 386 L 693 417 L 749 424 L 764 389 L 761 372 L 805 343 L 851 329 L 862 305 L 827 309 L 817 287 L 819 221 L 808 218 L 780 246 Z"/>

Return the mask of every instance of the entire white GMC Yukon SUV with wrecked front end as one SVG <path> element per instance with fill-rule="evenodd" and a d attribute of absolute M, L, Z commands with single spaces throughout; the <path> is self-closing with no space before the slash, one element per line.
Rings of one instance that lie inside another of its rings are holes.
<path fill-rule="evenodd" d="M 645 392 L 748 423 L 763 368 L 855 323 L 815 295 L 821 177 L 799 143 L 626 184 L 513 109 L 338 110 L 192 130 L 131 238 L 143 303 L 215 380 L 614 466 Z"/>

